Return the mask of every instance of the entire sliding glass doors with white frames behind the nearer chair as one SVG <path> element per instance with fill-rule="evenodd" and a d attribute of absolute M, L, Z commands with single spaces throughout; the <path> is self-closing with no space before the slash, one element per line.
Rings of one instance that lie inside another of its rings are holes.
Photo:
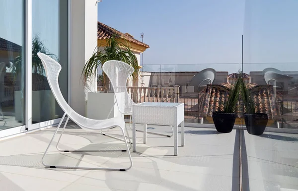
<path fill-rule="evenodd" d="M 37 53 L 62 65 L 59 85 L 68 101 L 69 0 L 0 0 L 0 13 L 3 137 L 55 124 L 63 115 Z"/>

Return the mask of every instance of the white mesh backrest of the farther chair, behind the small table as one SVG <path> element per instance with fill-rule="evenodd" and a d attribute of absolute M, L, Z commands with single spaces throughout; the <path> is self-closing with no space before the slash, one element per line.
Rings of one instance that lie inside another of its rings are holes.
<path fill-rule="evenodd" d="M 127 92 L 126 82 L 135 69 L 121 61 L 107 61 L 103 64 L 102 70 L 110 79 L 119 111 L 122 114 L 131 113 L 135 103 Z"/>

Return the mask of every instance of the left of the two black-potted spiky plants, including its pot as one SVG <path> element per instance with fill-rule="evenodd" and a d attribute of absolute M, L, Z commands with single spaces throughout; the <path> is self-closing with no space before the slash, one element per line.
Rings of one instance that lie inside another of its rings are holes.
<path fill-rule="evenodd" d="M 234 127 L 237 117 L 234 112 L 236 103 L 239 101 L 240 81 L 241 78 L 238 77 L 235 84 L 231 86 L 227 100 L 221 103 L 221 111 L 212 114 L 214 125 L 219 132 L 231 132 Z"/>

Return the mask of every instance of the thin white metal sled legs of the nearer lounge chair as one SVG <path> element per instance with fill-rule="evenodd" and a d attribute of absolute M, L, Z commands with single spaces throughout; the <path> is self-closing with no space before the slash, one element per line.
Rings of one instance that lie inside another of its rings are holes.
<path fill-rule="evenodd" d="M 56 131 L 55 131 L 55 133 L 54 133 L 54 135 L 53 135 L 53 137 L 52 137 L 52 139 L 51 139 L 51 141 L 50 141 L 50 143 L 49 143 L 49 145 L 48 145 L 48 147 L 47 147 L 47 149 L 46 149 L 46 151 L 45 151 L 45 153 L 43 155 L 43 157 L 42 157 L 42 164 L 45 167 L 48 167 L 48 168 L 62 168 L 62 169 L 110 170 L 110 171 L 127 171 L 127 170 L 129 170 L 129 169 L 132 168 L 132 166 L 133 166 L 133 160 L 132 160 L 131 154 L 129 152 L 129 147 L 128 147 L 128 144 L 127 144 L 125 132 L 124 132 L 124 129 L 122 127 L 120 127 L 120 128 L 121 128 L 121 132 L 123 134 L 123 139 L 124 139 L 124 142 L 126 144 L 126 149 L 127 149 L 125 151 L 128 152 L 129 159 L 130 159 L 130 166 L 128 168 L 77 167 L 77 166 L 56 166 L 56 165 L 55 166 L 54 165 L 52 166 L 52 165 L 45 164 L 44 163 L 44 157 L 45 157 L 45 155 L 46 155 L 46 153 L 47 153 L 47 151 L 48 151 L 51 143 L 53 142 L 54 137 L 57 134 L 57 132 L 58 132 L 58 130 L 59 130 L 61 124 L 62 124 L 62 121 L 65 118 L 65 116 L 66 116 L 66 114 L 63 115 L 63 117 L 62 117 L 62 119 L 61 119 L 61 121 L 60 121 L 60 123 L 59 123 L 59 125 L 58 125 L 58 127 L 57 127 L 57 129 L 56 129 Z M 67 122 L 68 122 L 68 119 L 67 119 Z M 66 124 L 67 124 L 67 122 L 66 122 Z M 65 127 L 66 127 L 66 125 L 64 125 L 64 128 L 63 128 L 62 132 L 64 132 Z M 61 138 L 61 135 L 60 135 L 60 138 Z M 60 140 L 60 138 L 59 138 L 59 140 Z M 57 143 L 57 147 L 58 147 L 58 143 Z M 124 150 L 122 150 L 122 151 L 124 151 Z M 108 150 L 97 150 L 97 151 L 86 151 L 86 150 L 84 150 L 84 151 L 79 150 L 78 151 L 78 150 L 74 150 L 74 151 L 71 151 L 71 152 L 108 152 Z M 114 152 L 114 151 L 113 150 L 110 150 L 110 152 Z"/>

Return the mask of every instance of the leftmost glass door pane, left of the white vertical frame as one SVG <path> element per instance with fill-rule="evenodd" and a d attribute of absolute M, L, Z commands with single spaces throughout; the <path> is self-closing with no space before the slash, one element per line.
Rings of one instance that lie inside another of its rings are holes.
<path fill-rule="evenodd" d="M 0 131 L 24 125 L 24 0 L 0 0 Z"/>

